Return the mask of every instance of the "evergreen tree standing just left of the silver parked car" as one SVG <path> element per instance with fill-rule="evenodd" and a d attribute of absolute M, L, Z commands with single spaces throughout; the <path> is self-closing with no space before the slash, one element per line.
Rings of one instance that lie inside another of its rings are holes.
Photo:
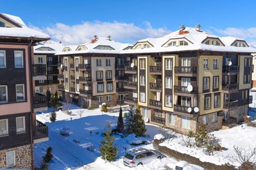
<path fill-rule="evenodd" d="M 100 144 L 100 154 L 102 159 L 108 160 L 109 162 L 113 161 L 117 157 L 118 148 L 117 145 L 114 144 L 115 137 L 111 136 L 110 124 L 107 123 L 107 129 L 105 129 L 104 138 L 101 140 Z"/>

